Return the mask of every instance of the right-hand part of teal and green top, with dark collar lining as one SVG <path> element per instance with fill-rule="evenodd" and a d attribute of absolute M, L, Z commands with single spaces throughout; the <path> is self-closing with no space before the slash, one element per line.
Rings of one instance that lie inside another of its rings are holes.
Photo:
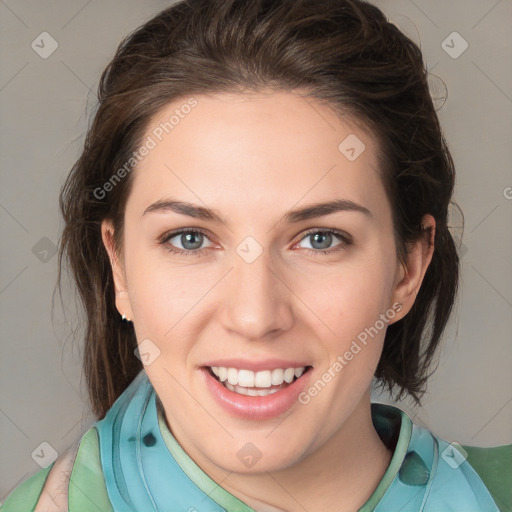
<path fill-rule="evenodd" d="M 512 510 L 512 445 L 450 443 L 386 404 L 372 404 L 372 419 L 385 444 L 396 440 L 388 468 L 393 480 L 383 486 L 376 511 L 400 509 L 397 504 L 423 512 Z"/>

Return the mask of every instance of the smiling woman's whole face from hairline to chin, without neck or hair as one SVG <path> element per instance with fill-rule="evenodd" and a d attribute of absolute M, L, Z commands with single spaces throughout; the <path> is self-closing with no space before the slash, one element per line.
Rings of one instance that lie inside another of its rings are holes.
<path fill-rule="evenodd" d="M 376 141 L 298 94 L 194 98 L 144 136 L 116 304 L 190 455 L 285 468 L 369 410 L 385 328 L 412 304 Z"/>

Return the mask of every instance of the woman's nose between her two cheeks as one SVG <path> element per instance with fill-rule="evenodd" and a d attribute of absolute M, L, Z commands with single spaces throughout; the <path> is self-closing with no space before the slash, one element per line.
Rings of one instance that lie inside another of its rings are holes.
<path fill-rule="evenodd" d="M 293 324 L 293 294 L 265 251 L 252 263 L 235 256 L 223 293 L 224 328 L 243 339 L 273 339 Z"/>

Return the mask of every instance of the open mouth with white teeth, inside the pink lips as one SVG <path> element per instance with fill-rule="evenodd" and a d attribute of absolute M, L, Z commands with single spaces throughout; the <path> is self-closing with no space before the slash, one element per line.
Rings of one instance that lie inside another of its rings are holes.
<path fill-rule="evenodd" d="M 312 368 L 308 365 L 252 371 L 222 366 L 204 367 L 225 389 L 249 397 L 265 397 L 284 390 L 309 373 Z"/>

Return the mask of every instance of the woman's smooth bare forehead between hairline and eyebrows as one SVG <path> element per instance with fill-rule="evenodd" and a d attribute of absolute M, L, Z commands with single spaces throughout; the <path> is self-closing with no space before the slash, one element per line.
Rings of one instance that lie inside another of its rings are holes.
<path fill-rule="evenodd" d="M 298 93 L 184 97 L 153 117 L 144 143 L 151 149 L 133 171 L 128 201 L 141 213 L 166 195 L 261 213 L 383 194 L 373 135 Z"/>

